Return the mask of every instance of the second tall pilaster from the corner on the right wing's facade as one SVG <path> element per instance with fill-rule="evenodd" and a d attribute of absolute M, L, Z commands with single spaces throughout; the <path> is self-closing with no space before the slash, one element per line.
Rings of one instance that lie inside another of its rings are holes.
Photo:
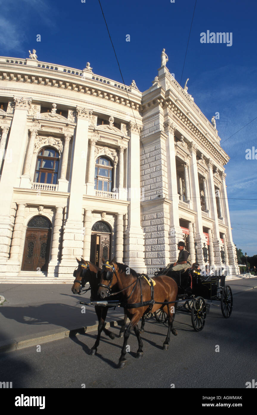
<path fill-rule="evenodd" d="M 202 230 L 202 209 L 200 202 L 199 179 L 197 170 L 196 151 L 197 146 L 194 142 L 190 143 L 189 151 L 192 155 L 190 159 L 190 176 L 192 178 L 192 204 L 193 210 L 197 212 L 195 216 L 195 242 L 197 250 L 197 260 L 200 265 L 204 264 L 204 257 L 202 252 L 202 244 L 206 241 Z"/>

